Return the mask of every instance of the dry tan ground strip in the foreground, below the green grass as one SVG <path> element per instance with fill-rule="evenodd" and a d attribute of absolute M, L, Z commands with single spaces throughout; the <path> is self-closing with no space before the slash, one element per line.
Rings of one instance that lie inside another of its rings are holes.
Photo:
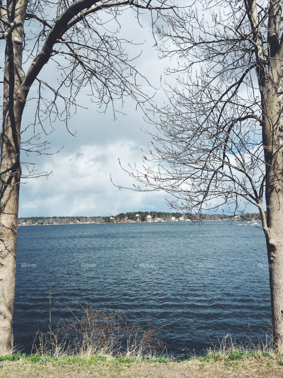
<path fill-rule="evenodd" d="M 29 361 L 2 362 L 2 378 L 282 378 L 283 366 L 278 361 L 248 359 L 225 364 L 201 363 L 98 363 L 89 366 L 51 363 L 32 364 Z M 269 366 L 268 366 L 269 364 Z M 271 366 L 272 364 L 272 366 Z"/>

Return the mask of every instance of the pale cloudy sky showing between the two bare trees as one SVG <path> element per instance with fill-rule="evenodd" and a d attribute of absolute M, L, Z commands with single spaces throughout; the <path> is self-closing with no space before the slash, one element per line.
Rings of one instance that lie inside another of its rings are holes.
<path fill-rule="evenodd" d="M 122 26 L 120 35 L 131 38 L 137 44 L 129 45 L 129 56 L 140 54 L 134 65 L 152 87 L 158 88 L 155 101 L 161 106 L 166 101 L 161 83 L 174 83 L 174 77 L 165 76 L 165 66 L 177 67 L 177 57 L 159 59 L 151 19 L 145 15 L 140 17 L 140 21 L 142 27 L 133 13 L 123 12 L 119 16 Z M 37 25 L 29 26 L 32 27 Z M 48 62 L 40 75 L 50 85 L 55 85 L 57 74 L 56 65 Z M 155 90 L 145 80 L 139 80 L 143 92 L 152 96 Z M 38 84 L 35 82 L 30 90 L 31 98 L 37 90 Z M 53 155 L 32 154 L 29 157 L 22 154 L 23 172 L 26 172 L 24 162 L 28 161 L 35 164 L 37 172 L 48 172 L 49 175 L 22 179 L 18 216 L 97 216 L 127 211 L 172 211 L 165 200 L 170 197 L 165 192 L 119 189 L 110 180 L 111 175 L 116 185 L 133 187 L 136 182 L 121 169 L 118 159 L 124 167 L 137 164 L 142 169 L 143 151 L 148 150 L 152 141 L 143 129 L 149 127 L 154 133 L 154 127 L 148 124 L 131 98 L 125 98 L 123 109 L 119 108 L 119 102 L 116 103 L 117 110 L 122 110 L 126 115 L 117 113 L 117 119 L 114 119 L 111 108 L 102 113 L 98 105 L 91 101 L 90 95 L 89 87 L 85 87 L 77 96 L 78 104 L 84 108 L 77 108 L 69 119 L 69 130 L 75 136 L 68 132 L 63 122 L 55 121 L 52 127 L 47 121 L 44 124 L 47 133 L 52 131 L 46 136 L 51 143 L 49 152 L 60 152 Z M 27 103 L 22 129 L 33 121 L 35 105 L 32 100 Z"/>

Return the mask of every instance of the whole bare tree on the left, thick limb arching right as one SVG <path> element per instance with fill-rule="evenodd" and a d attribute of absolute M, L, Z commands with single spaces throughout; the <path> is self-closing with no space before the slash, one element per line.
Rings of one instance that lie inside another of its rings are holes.
<path fill-rule="evenodd" d="M 75 98 L 87 84 L 99 107 L 111 105 L 114 109 L 115 100 L 123 102 L 125 96 L 137 104 L 147 101 L 140 91 L 142 77 L 125 51 L 132 42 L 119 39 L 116 33 L 121 28 L 120 15 L 129 8 L 137 22 L 141 12 L 149 12 L 152 24 L 167 22 L 171 9 L 175 12 L 170 0 L 59 0 L 57 5 L 48 0 L 0 1 L 0 39 L 6 44 L 0 140 L 1 355 L 13 347 L 20 150 L 46 153 L 48 142 L 41 142 L 42 135 L 48 133 L 46 122 L 53 127 L 53 122 L 60 120 L 68 127 L 71 109 L 79 106 Z M 110 22 L 117 25 L 112 32 L 108 30 Z M 43 70 L 46 64 L 51 64 L 49 71 Z M 31 96 L 34 82 L 37 91 Z M 21 128 L 29 104 L 29 112 L 35 105 L 35 121 Z M 28 132 L 26 139 L 23 132 Z M 27 174 L 37 175 L 34 169 Z"/>

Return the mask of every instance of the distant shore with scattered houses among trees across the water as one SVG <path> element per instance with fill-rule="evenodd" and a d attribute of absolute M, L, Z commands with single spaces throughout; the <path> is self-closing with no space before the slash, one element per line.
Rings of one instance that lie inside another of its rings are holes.
<path fill-rule="evenodd" d="M 259 213 L 245 213 L 238 215 L 201 214 L 179 212 L 126 212 L 111 216 L 62 216 L 62 217 L 25 217 L 18 218 L 19 226 L 31 225 L 66 225 L 82 223 L 152 223 L 152 222 L 206 222 L 206 221 L 247 221 L 260 220 Z"/>

